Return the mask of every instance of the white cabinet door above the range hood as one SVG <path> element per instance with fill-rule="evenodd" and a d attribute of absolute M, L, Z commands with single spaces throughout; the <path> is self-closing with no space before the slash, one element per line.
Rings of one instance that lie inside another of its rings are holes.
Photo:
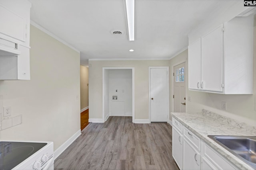
<path fill-rule="evenodd" d="M 0 33 L 25 41 L 26 20 L 0 4 Z"/>

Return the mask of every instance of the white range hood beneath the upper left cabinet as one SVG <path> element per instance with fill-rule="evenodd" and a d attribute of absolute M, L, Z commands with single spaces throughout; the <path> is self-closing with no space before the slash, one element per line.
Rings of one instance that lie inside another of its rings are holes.
<path fill-rule="evenodd" d="M 21 52 L 18 50 L 18 44 L 0 38 L 0 57 L 17 56 Z"/>

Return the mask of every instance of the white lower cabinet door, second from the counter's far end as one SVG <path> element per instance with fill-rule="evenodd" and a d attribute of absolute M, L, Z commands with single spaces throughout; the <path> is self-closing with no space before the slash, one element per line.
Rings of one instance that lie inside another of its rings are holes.
<path fill-rule="evenodd" d="M 200 170 L 200 153 L 183 139 L 183 170 Z"/>

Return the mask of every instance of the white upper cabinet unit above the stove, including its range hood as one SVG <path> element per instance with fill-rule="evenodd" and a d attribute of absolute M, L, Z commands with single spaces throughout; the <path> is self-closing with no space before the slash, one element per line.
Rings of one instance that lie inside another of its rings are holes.
<path fill-rule="evenodd" d="M 28 0 L 0 0 L 0 80 L 30 80 Z"/>

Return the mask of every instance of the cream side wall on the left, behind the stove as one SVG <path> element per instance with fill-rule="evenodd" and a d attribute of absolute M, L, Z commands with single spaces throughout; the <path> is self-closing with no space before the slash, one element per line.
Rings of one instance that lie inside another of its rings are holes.
<path fill-rule="evenodd" d="M 0 81 L 4 106 L 22 124 L 1 140 L 53 141 L 54 150 L 80 130 L 80 54 L 30 26 L 31 80 Z"/>

